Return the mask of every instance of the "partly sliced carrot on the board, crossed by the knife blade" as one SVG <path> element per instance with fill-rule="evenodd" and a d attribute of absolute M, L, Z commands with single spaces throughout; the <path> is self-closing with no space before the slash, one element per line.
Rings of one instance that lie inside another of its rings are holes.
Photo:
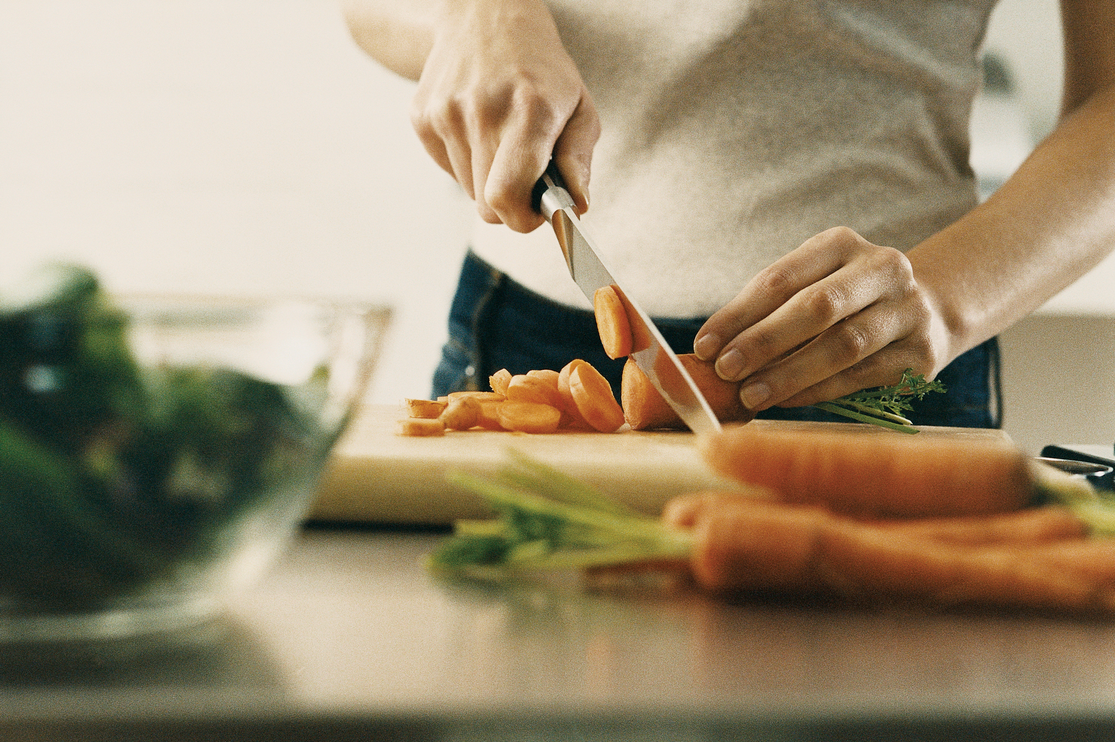
<path fill-rule="evenodd" d="M 663 355 L 668 360 L 668 357 Z M 721 422 L 747 422 L 755 413 L 739 401 L 739 384 L 725 381 L 716 375 L 716 370 L 708 361 L 702 361 L 692 353 L 678 355 L 678 360 L 692 377 L 694 383 L 708 400 L 709 407 Z M 647 374 L 632 359 L 623 365 L 623 379 L 620 385 L 620 398 L 623 400 L 623 416 L 632 430 L 652 428 L 685 429 L 677 412 L 670 409 L 662 396 L 650 383 Z"/>

